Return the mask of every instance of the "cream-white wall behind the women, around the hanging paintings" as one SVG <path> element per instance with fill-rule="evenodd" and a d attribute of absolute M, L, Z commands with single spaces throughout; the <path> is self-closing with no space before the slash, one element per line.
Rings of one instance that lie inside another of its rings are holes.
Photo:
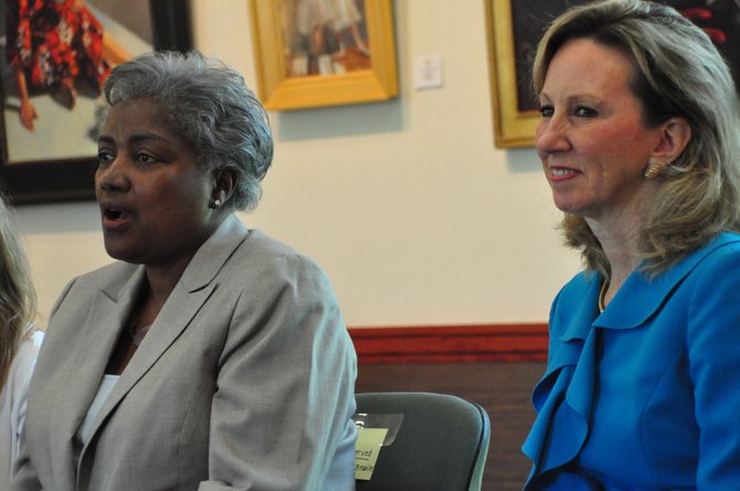
<path fill-rule="evenodd" d="M 247 0 L 192 0 L 197 46 L 255 86 Z M 251 0 L 250 0 L 251 1 Z M 531 149 L 494 148 L 484 0 L 397 0 L 398 99 L 273 113 L 273 169 L 243 215 L 314 257 L 352 327 L 545 322 L 579 268 Z M 415 56 L 444 85 L 415 90 Z M 44 317 L 106 264 L 92 203 L 23 206 Z"/>

